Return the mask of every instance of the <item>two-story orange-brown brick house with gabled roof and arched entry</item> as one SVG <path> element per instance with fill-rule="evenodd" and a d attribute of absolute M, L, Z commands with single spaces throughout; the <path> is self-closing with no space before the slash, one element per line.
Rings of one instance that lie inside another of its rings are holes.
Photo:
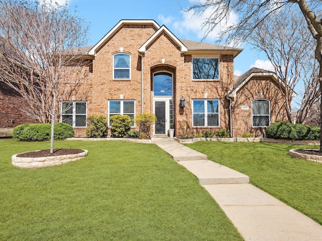
<path fill-rule="evenodd" d="M 274 73 L 252 69 L 234 81 L 242 49 L 178 39 L 153 20 L 122 20 L 84 51 L 89 94 L 61 103 L 61 121 L 76 136 L 85 136 L 92 114 L 155 113 L 153 135 L 167 135 L 174 123 L 179 137 L 219 128 L 258 133 L 285 118 Z"/>

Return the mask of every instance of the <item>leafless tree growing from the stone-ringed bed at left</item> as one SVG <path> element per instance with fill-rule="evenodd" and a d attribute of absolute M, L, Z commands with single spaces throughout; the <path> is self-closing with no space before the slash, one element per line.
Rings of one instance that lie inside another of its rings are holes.
<path fill-rule="evenodd" d="M 87 33 L 67 5 L 0 0 L 0 81 L 28 102 L 29 116 L 52 124 L 50 152 L 57 103 L 86 75 L 79 48 Z"/>

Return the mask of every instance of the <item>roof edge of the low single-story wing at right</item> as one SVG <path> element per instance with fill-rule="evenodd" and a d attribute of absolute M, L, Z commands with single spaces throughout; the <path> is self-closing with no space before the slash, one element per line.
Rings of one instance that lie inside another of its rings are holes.
<path fill-rule="evenodd" d="M 276 73 L 273 71 L 265 70 L 265 69 L 259 69 L 259 68 L 252 68 L 246 73 L 240 75 L 240 76 L 234 76 L 234 85 L 233 89 L 228 93 L 228 97 L 236 97 L 236 93 L 239 89 L 241 89 L 247 82 L 254 76 L 271 76 L 271 78 L 276 81 L 276 83 L 282 84 L 281 79 L 277 76 Z M 293 91 L 293 97 L 295 97 L 297 94 Z"/>

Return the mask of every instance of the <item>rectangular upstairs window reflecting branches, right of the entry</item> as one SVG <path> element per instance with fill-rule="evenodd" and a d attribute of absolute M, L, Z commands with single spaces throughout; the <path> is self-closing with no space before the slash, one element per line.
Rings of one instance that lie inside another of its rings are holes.
<path fill-rule="evenodd" d="M 192 79 L 219 79 L 219 58 L 193 58 Z"/>

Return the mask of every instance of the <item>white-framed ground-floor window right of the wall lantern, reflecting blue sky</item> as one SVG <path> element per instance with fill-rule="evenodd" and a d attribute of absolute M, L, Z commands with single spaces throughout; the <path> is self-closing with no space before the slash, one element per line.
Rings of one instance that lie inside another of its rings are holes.
<path fill-rule="evenodd" d="M 194 99 L 192 108 L 194 127 L 219 127 L 218 99 Z"/>

